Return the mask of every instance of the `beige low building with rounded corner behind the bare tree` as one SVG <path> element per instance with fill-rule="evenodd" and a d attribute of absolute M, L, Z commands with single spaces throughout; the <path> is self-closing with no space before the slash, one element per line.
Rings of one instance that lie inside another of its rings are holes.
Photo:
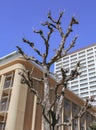
<path fill-rule="evenodd" d="M 33 67 L 33 75 L 42 77 L 42 69 L 34 63 L 25 61 L 17 52 L 0 59 L 0 130 L 43 130 L 42 111 L 36 104 L 37 98 L 26 85 L 21 84 L 19 74 Z M 53 78 L 50 78 L 50 84 L 55 84 Z M 43 97 L 43 84 L 34 80 L 33 85 Z M 76 115 L 83 103 L 82 99 L 67 90 L 62 109 L 62 122 Z M 81 119 L 76 119 L 72 126 L 62 127 L 61 130 L 87 130 L 90 123 L 95 120 L 93 116 L 95 113 L 95 108 L 92 108 Z"/>

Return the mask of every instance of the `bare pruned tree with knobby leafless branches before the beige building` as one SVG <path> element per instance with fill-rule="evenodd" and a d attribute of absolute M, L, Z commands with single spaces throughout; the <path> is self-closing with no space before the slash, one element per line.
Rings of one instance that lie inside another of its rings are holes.
<path fill-rule="evenodd" d="M 69 35 L 73 31 L 73 25 L 78 24 L 78 21 L 72 17 L 68 29 L 66 33 L 64 33 L 63 28 L 61 27 L 61 18 L 63 16 L 63 12 L 60 12 L 57 20 L 55 20 L 51 12 L 48 13 L 48 21 L 41 23 L 42 26 L 47 27 L 48 29 L 48 34 L 45 37 L 44 31 L 43 30 L 34 30 L 34 33 L 39 34 L 41 39 L 44 41 L 44 46 L 45 46 L 45 52 L 42 53 L 39 49 L 35 48 L 35 44 L 25 38 L 23 38 L 23 42 L 28 44 L 41 58 L 42 61 L 39 59 L 36 59 L 34 56 L 28 56 L 24 53 L 24 51 L 17 46 L 19 53 L 21 53 L 26 60 L 35 62 L 36 64 L 42 66 L 43 68 L 43 77 L 41 79 L 38 79 L 36 77 L 32 76 L 32 71 L 26 71 L 22 73 L 23 77 L 23 83 L 27 84 L 30 90 L 37 96 L 38 98 L 38 104 L 42 107 L 42 115 L 44 119 L 44 130 L 57 130 L 60 126 L 66 125 L 70 126 L 72 124 L 72 121 L 76 118 L 82 117 L 82 115 L 90 108 L 89 105 L 89 100 L 86 100 L 86 104 L 83 105 L 81 111 L 78 113 L 77 116 L 73 117 L 69 122 L 60 122 L 60 113 L 62 109 L 62 103 L 64 101 L 64 94 L 67 89 L 67 83 L 68 81 L 73 80 L 76 78 L 79 73 L 79 68 L 80 68 L 80 62 L 76 64 L 76 67 L 71 70 L 70 74 L 68 75 L 67 73 L 69 70 L 66 70 L 64 68 L 61 68 L 61 73 L 62 73 L 62 79 L 59 80 L 54 86 L 54 99 L 52 102 L 50 102 L 50 83 L 49 83 L 49 77 L 50 77 L 50 67 L 54 62 L 59 60 L 60 58 L 64 57 L 67 55 L 69 50 L 74 47 L 77 36 L 74 37 L 68 48 L 65 49 L 66 45 L 66 40 L 68 39 Z M 54 31 L 59 32 L 61 41 L 59 44 L 59 48 L 56 50 L 55 55 L 49 59 L 48 61 L 48 56 L 49 56 L 49 49 L 50 49 L 50 38 L 51 35 L 54 33 Z M 43 82 L 44 84 L 44 98 L 41 99 L 38 91 L 33 88 L 33 79 L 38 80 L 40 82 Z M 58 94 L 58 90 L 61 87 L 61 91 Z M 91 99 L 90 101 L 93 101 Z"/>

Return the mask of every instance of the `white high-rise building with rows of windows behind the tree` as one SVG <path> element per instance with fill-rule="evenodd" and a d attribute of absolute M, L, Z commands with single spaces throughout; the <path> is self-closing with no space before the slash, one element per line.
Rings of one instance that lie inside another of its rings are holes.
<path fill-rule="evenodd" d="M 81 65 L 81 75 L 68 83 L 69 89 L 82 98 L 96 96 L 96 44 L 59 59 L 54 65 L 54 73 L 61 78 L 60 69 L 63 67 L 72 70 L 78 61 Z M 96 105 L 96 97 L 94 105 Z"/>

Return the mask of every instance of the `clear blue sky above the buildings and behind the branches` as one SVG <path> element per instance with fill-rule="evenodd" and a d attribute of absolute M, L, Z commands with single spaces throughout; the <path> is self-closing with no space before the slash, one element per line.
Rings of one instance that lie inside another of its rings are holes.
<path fill-rule="evenodd" d="M 49 10 L 54 18 L 60 11 L 65 11 L 62 20 L 65 31 L 72 16 L 78 19 L 79 25 L 74 26 L 68 41 L 78 34 L 75 50 L 96 43 L 96 0 L 0 0 L 0 57 L 15 51 L 17 45 L 31 54 L 22 43 L 23 37 L 43 49 L 32 29 L 42 28 L 40 23 L 47 20 Z M 54 35 L 53 41 L 51 45 L 55 48 L 59 38 Z"/>

